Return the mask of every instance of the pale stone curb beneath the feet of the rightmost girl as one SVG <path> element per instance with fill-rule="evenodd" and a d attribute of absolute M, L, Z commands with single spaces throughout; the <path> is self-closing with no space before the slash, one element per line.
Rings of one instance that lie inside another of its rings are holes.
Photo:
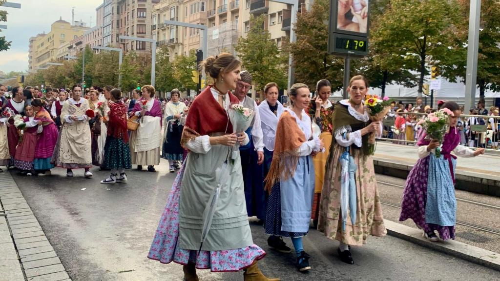
<path fill-rule="evenodd" d="M 431 242 L 422 237 L 422 230 L 384 219 L 387 234 L 500 271 L 500 254 L 455 240 Z"/>

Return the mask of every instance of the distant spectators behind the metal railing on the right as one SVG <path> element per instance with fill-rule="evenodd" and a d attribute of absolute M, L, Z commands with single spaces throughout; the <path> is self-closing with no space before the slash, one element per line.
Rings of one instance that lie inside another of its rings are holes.
<path fill-rule="evenodd" d="M 383 136 L 394 139 L 396 144 L 415 145 L 418 137 L 422 134 L 421 123 L 426 114 L 434 112 L 442 107 L 443 100 L 437 101 L 437 108 L 430 105 L 423 105 L 422 98 L 416 99 L 416 104 L 403 102 L 392 102 L 389 113 L 385 116 Z M 463 114 L 463 107 L 459 107 Z M 490 147 L 498 149 L 498 138 L 500 137 L 500 118 L 498 116 L 498 106 L 491 106 L 489 111 L 484 108 L 482 101 L 477 103 L 476 108 L 471 108 L 468 115 L 484 115 L 459 117 L 457 120 L 457 130 L 460 136 L 460 144 L 469 147 Z M 474 130 L 473 125 L 485 125 L 486 131 Z"/>

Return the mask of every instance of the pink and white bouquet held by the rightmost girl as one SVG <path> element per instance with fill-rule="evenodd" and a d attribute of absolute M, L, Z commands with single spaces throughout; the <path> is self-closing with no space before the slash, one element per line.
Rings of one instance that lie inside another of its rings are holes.
<path fill-rule="evenodd" d="M 448 116 L 453 116 L 453 111 L 448 108 L 441 108 L 436 112 L 427 115 L 427 118 L 422 122 L 422 127 L 426 131 L 425 139 L 437 139 L 442 141 L 444 135 L 448 131 Z M 441 156 L 441 147 L 435 148 L 435 156 Z"/>

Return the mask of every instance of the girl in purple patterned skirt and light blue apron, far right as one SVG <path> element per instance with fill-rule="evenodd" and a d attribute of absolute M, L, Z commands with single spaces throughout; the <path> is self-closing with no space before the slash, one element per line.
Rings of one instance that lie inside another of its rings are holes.
<path fill-rule="evenodd" d="M 439 238 L 454 239 L 456 223 L 456 199 L 454 191 L 456 156 L 475 157 L 484 153 L 483 148 L 475 151 L 459 145 L 460 134 L 456 128 L 460 107 L 454 101 L 446 101 L 441 110 L 448 114 L 449 129 L 442 141 L 428 139 L 424 131 L 418 139 L 419 159 L 406 179 L 401 201 L 400 221 L 411 218 L 423 229 L 423 235 L 430 241 Z M 440 146 L 436 156 L 436 147 Z M 439 198 L 439 199 L 438 199 Z M 439 234 L 437 237 L 435 230 Z"/>

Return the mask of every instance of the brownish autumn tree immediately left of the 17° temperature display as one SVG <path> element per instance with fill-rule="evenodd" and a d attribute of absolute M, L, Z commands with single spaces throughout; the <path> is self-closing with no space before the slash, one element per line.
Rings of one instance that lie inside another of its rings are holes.
<path fill-rule="evenodd" d="M 297 15 L 297 40 L 290 44 L 295 66 L 295 80 L 316 87 L 319 79 L 328 79 L 332 90 L 343 82 L 343 59 L 328 53 L 329 0 L 315 0 L 309 11 Z M 356 73 L 356 60 L 351 60 L 351 74 Z"/>

